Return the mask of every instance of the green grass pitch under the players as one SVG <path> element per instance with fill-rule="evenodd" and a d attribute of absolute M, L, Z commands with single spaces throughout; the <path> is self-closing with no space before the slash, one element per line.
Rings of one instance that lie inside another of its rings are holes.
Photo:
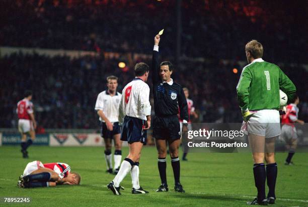
<path fill-rule="evenodd" d="M 140 184 L 149 194 L 131 194 L 128 174 L 121 183 L 121 196 L 106 185 L 113 175 L 105 173 L 101 147 L 32 146 L 29 159 L 21 158 L 19 147 L 0 147 L 0 197 L 31 197 L 31 206 L 247 206 L 256 195 L 252 158 L 248 153 L 190 153 L 181 162 L 181 182 L 186 193 L 173 190 L 173 172 L 167 159 L 169 192 L 155 192 L 160 185 L 156 148 L 144 147 L 140 160 Z M 128 148 L 123 148 L 123 155 Z M 276 204 L 272 206 L 308 206 L 307 153 L 296 153 L 296 165 L 285 166 L 286 153 L 277 153 L 278 180 Z M 80 186 L 20 189 L 18 176 L 29 161 L 65 162 L 82 176 Z M 4 205 L 4 204 L 0 204 Z M 13 205 L 10 205 L 13 206 Z M 21 204 L 17 204 L 21 206 Z"/>

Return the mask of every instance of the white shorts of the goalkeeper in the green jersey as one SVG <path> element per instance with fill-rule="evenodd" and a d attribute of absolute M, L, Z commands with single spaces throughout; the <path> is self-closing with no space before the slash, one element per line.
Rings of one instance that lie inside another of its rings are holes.
<path fill-rule="evenodd" d="M 248 133 L 266 138 L 279 136 L 281 133 L 279 111 L 273 109 L 257 111 L 255 117 L 248 120 L 247 130 Z"/>

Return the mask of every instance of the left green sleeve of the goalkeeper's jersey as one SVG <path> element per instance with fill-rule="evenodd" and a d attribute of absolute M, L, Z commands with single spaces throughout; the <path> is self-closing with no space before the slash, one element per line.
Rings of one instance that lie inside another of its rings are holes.
<path fill-rule="evenodd" d="M 248 110 L 249 87 L 252 74 L 249 68 L 244 68 L 237 86 L 238 102 L 242 111 Z"/>

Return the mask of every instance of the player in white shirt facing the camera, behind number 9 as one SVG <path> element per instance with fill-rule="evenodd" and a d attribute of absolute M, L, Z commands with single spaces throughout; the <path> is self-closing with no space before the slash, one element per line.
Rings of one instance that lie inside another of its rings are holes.
<path fill-rule="evenodd" d="M 120 126 L 118 121 L 119 105 L 122 95 L 117 92 L 118 78 L 116 76 L 107 77 L 108 90 L 101 92 L 96 100 L 95 110 L 101 121 L 101 136 L 105 142 L 105 160 L 107 172 L 118 173 L 122 159 L 122 141 L 120 140 Z M 114 171 L 112 170 L 112 139 L 114 140 Z"/>

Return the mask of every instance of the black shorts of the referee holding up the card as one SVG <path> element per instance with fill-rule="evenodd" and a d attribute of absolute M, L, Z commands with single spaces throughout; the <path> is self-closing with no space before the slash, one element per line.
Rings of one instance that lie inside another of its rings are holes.
<path fill-rule="evenodd" d="M 155 116 L 153 119 L 153 137 L 156 139 L 176 140 L 181 138 L 180 121 L 177 115 Z"/>

